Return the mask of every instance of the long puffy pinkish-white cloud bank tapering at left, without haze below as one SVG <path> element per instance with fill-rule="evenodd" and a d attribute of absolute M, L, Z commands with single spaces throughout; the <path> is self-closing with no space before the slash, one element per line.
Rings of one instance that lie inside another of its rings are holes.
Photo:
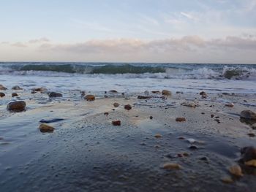
<path fill-rule="evenodd" d="M 43 44 L 39 48 L 49 51 L 69 53 L 168 53 L 170 51 L 186 52 L 203 49 L 232 49 L 256 51 L 254 37 L 226 37 L 225 39 L 203 39 L 198 36 L 143 41 L 140 39 L 105 39 L 90 40 L 74 44 Z"/>

